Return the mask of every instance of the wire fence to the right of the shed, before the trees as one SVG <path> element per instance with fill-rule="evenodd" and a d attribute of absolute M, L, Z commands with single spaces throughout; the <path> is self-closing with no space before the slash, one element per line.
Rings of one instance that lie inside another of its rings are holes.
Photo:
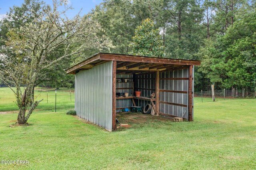
<path fill-rule="evenodd" d="M 226 100 L 226 99 L 244 99 L 244 98 L 255 98 L 256 91 L 247 91 L 246 89 L 223 89 L 212 91 L 198 91 L 194 92 L 194 97 L 201 98 L 203 101 L 212 101 L 214 95 L 215 100 Z"/>

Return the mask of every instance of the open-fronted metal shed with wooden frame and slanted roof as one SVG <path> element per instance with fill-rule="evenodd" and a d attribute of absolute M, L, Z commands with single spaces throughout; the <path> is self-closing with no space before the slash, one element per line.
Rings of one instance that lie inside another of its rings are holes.
<path fill-rule="evenodd" d="M 96 53 L 66 73 L 75 74 L 77 115 L 112 131 L 117 111 L 148 103 L 156 115 L 193 121 L 194 65 L 200 61 Z M 134 96 L 134 91 L 141 91 L 141 96 Z M 116 97 L 117 92 L 130 95 Z"/>

